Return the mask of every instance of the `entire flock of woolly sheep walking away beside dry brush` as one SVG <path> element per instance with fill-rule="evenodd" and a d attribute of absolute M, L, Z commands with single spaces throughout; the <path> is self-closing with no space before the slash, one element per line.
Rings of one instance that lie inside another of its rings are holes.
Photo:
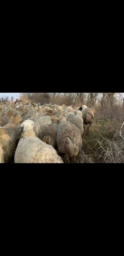
<path fill-rule="evenodd" d="M 75 163 L 94 112 L 86 105 L 1 103 L 0 163 Z"/>

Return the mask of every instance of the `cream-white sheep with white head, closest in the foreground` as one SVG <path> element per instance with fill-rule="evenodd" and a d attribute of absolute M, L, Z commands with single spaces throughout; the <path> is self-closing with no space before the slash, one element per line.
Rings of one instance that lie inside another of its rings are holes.
<path fill-rule="evenodd" d="M 25 120 L 21 126 L 23 132 L 15 151 L 14 163 L 63 163 L 53 146 L 36 137 L 33 121 Z"/>

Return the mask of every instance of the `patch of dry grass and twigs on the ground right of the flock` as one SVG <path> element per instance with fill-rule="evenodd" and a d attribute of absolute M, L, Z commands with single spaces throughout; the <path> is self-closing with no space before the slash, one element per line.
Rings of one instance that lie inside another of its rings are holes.
<path fill-rule="evenodd" d="M 120 136 L 122 123 L 95 121 L 82 139 L 78 163 L 124 163 L 124 139 Z M 124 128 L 122 127 L 122 134 Z"/>

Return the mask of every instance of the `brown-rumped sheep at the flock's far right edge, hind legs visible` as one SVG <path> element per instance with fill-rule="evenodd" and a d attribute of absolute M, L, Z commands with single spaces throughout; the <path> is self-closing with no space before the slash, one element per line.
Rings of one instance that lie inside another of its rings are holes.
<path fill-rule="evenodd" d="M 84 129 L 85 129 L 85 125 L 88 125 L 87 133 L 89 133 L 89 126 L 91 126 L 92 122 L 94 121 L 94 112 L 90 108 L 85 108 L 81 112 L 83 117 Z"/>

